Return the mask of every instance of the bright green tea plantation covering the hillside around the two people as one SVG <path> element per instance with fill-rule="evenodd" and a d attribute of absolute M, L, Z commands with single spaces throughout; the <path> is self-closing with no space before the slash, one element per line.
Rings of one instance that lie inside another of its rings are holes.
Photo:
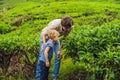
<path fill-rule="evenodd" d="M 75 24 L 63 43 L 59 80 L 120 80 L 119 3 L 1 0 L 0 80 L 35 80 L 40 32 L 63 16 L 71 16 Z M 52 71 L 53 65 L 50 80 Z"/>

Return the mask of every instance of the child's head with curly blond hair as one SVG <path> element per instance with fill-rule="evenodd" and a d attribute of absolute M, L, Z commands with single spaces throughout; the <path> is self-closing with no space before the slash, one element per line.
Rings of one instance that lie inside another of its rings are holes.
<path fill-rule="evenodd" d="M 58 37 L 59 37 L 59 32 L 56 30 L 49 30 L 47 33 L 49 39 L 53 40 L 53 42 L 58 41 Z"/>

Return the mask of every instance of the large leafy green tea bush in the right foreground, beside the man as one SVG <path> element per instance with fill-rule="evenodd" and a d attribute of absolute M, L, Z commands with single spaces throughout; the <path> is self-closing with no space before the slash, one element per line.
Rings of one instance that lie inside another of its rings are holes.
<path fill-rule="evenodd" d="M 119 80 L 120 24 L 75 26 L 64 43 L 65 53 L 79 62 L 88 80 Z"/>

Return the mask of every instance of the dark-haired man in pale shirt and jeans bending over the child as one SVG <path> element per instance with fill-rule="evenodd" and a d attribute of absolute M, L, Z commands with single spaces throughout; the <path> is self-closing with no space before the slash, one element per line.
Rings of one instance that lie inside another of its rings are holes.
<path fill-rule="evenodd" d="M 66 36 L 73 28 L 73 20 L 69 16 L 65 16 L 62 19 L 54 19 L 52 20 L 41 32 L 40 36 L 40 47 L 43 48 L 44 44 L 46 43 L 47 32 L 51 29 L 54 29 L 60 33 L 61 36 L 64 36 L 61 42 L 66 39 Z M 62 43 L 61 43 L 62 44 Z M 55 62 L 54 62 L 54 70 L 53 70 L 53 79 L 56 80 L 59 74 L 60 68 L 60 41 L 58 40 L 54 45 L 54 53 L 55 53 Z"/>

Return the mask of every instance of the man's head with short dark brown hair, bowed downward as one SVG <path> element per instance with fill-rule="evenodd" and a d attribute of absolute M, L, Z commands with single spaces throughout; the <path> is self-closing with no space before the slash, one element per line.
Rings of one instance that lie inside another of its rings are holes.
<path fill-rule="evenodd" d="M 63 28 L 63 30 L 65 30 L 65 31 L 69 31 L 69 30 L 72 28 L 73 24 L 74 24 L 74 23 L 73 23 L 73 20 L 72 20 L 72 18 L 69 17 L 69 16 L 65 16 L 65 17 L 63 17 L 62 20 L 61 20 L 62 28 Z"/>

